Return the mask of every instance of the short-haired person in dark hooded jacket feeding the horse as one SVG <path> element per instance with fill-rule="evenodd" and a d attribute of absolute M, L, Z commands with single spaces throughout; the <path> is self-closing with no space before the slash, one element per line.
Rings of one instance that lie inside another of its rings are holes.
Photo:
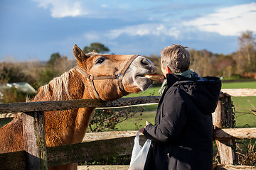
<path fill-rule="evenodd" d="M 186 47 L 170 45 L 161 50 L 164 82 L 155 124 L 146 121 L 139 130 L 151 140 L 145 170 L 196 169 L 213 166 L 212 115 L 218 104 L 221 81 L 198 77 Z"/>

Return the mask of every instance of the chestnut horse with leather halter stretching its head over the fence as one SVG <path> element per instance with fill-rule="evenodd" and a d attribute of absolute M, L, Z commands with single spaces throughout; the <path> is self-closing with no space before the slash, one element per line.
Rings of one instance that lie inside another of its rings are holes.
<path fill-rule="evenodd" d="M 144 77 L 154 74 L 156 67 L 137 55 L 102 55 L 84 52 L 74 45 L 78 65 L 49 84 L 41 86 L 33 101 L 57 101 L 97 98 L 112 101 L 130 93 L 146 90 L 152 81 Z M 95 108 L 46 111 L 46 146 L 54 147 L 82 142 Z M 22 114 L 22 113 L 21 113 Z M 0 128 L 0 153 L 23 150 L 21 115 Z M 77 169 L 77 164 L 50 167 Z"/>

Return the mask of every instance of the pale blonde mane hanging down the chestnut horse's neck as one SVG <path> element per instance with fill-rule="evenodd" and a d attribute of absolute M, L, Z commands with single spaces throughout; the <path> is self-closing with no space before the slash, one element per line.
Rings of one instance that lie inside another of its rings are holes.
<path fill-rule="evenodd" d="M 70 69 L 69 72 L 63 73 L 60 77 L 55 77 L 53 80 L 44 86 L 41 86 L 41 92 L 46 96 L 48 101 L 62 101 L 70 100 L 70 94 L 68 92 L 68 79 L 70 74 L 74 73 L 74 68 Z M 50 96 L 50 88 L 52 89 L 53 95 Z M 65 96 L 63 96 L 65 94 Z"/>

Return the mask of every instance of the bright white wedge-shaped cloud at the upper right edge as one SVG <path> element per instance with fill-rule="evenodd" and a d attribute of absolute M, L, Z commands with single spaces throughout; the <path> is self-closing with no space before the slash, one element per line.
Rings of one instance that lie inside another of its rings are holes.
<path fill-rule="evenodd" d="M 183 26 L 195 26 L 198 30 L 220 35 L 240 35 L 245 30 L 256 32 L 256 3 L 220 8 L 215 13 L 184 22 Z"/>

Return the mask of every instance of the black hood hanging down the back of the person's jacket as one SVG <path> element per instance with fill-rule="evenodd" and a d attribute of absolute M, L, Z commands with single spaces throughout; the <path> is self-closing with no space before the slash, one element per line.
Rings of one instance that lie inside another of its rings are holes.
<path fill-rule="evenodd" d="M 183 77 L 167 74 L 167 88 L 176 86 L 191 97 L 191 100 L 202 113 L 215 111 L 220 96 L 221 81 L 218 77 Z"/>

